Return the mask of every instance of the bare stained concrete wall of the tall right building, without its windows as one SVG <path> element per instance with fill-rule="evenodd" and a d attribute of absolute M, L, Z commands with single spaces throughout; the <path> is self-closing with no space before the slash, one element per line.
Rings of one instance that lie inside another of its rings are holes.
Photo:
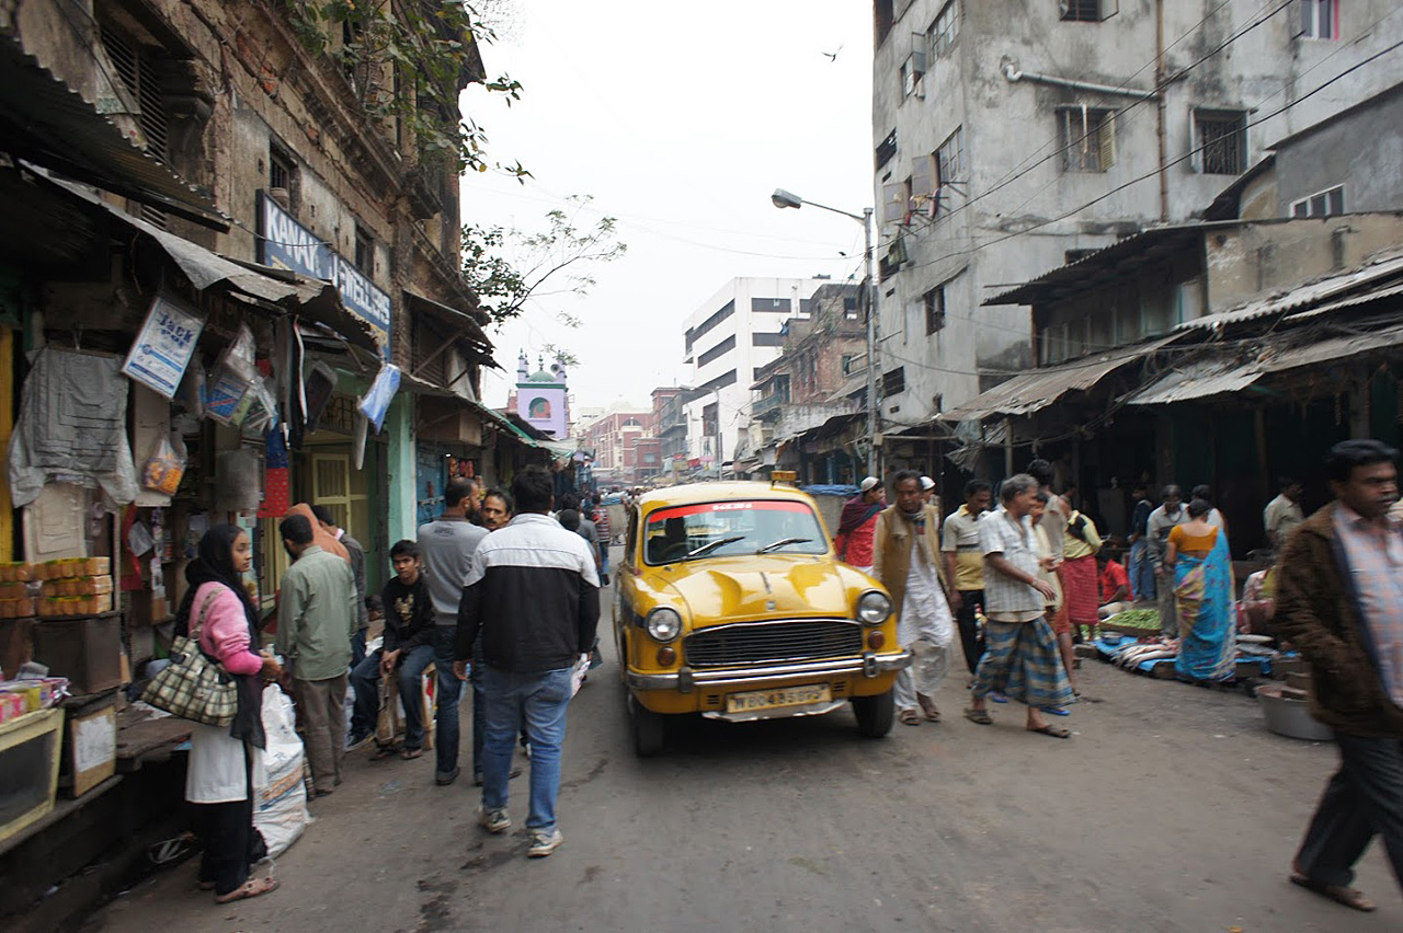
<path fill-rule="evenodd" d="M 875 6 L 892 6 L 897 17 L 874 56 L 874 148 L 897 130 L 895 157 L 875 170 L 878 219 L 882 186 L 912 177 L 912 160 L 929 157 L 961 126 L 968 165 L 964 184 L 941 193 L 943 216 L 909 227 L 911 262 L 881 284 L 881 368 L 904 366 L 906 382 L 902 398 L 884 402 L 882 413 L 908 423 L 929 417 L 936 395 L 948 408 L 978 392 L 981 381 L 993 381 L 988 374 L 1016 371 L 1031 360 L 1027 310 L 981 307 L 995 286 L 1026 282 L 1062 265 L 1069 249 L 1110 245 L 1162 217 L 1193 219 L 1232 182 L 1230 175 L 1193 168 L 1195 108 L 1250 111 L 1249 119 L 1261 122 L 1247 130 L 1247 161 L 1256 163 L 1275 140 L 1386 87 L 1396 71 L 1381 59 L 1301 99 L 1403 34 L 1403 18 L 1389 18 L 1395 4 L 1388 0 L 1343 4 L 1337 41 L 1294 38 L 1298 4 L 1243 32 L 1264 13 L 1256 0 L 1232 0 L 1221 10 L 1219 0 L 1166 0 L 1164 42 L 1183 36 L 1166 52 L 1166 73 L 1191 70 L 1166 88 L 1170 164 L 1162 214 L 1153 101 L 1117 118 L 1108 171 L 1069 172 L 1059 156 L 1056 108 L 1121 109 L 1134 98 L 1012 83 L 1002 70 L 1014 63 L 1028 73 L 1150 90 L 1153 0 L 1120 0 L 1120 11 L 1101 22 L 1062 22 L 1052 0 L 957 0 L 958 36 L 947 53 L 927 60 L 923 97 L 905 94 L 901 66 L 912 34 L 926 34 L 944 1 Z M 1214 53 L 1237 32 L 1243 35 Z M 1301 102 L 1271 115 L 1288 101 Z M 880 233 L 885 252 L 898 228 L 882 224 Z M 915 310 L 941 283 L 946 329 L 926 338 L 923 326 L 916 331 Z"/>

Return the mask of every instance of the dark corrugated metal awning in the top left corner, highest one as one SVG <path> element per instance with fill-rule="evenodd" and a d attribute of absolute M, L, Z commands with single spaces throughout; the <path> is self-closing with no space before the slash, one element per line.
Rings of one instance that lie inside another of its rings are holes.
<path fill-rule="evenodd" d="M 185 220 L 229 230 L 229 217 L 213 200 L 133 146 L 14 38 L 0 39 L 0 87 L 4 151 Z"/>

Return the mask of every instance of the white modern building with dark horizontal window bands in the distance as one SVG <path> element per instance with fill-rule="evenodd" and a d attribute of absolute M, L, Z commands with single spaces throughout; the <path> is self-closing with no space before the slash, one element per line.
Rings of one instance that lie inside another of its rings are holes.
<path fill-rule="evenodd" d="M 731 279 L 686 319 L 683 361 L 696 398 L 687 402 L 689 458 L 716 469 L 749 426 L 751 384 L 779 354 L 784 321 L 808 314 L 825 279 Z M 718 441 L 720 438 L 720 441 Z"/>

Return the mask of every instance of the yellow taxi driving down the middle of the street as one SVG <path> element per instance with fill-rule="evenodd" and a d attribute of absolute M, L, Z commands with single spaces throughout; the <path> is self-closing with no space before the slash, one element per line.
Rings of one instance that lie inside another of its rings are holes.
<path fill-rule="evenodd" d="M 891 597 L 829 546 L 814 500 L 779 483 L 711 482 L 641 496 L 613 607 L 634 751 L 669 716 L 815 716 L 852 703 L 864 735 L 892 724 L 911 664 Z"/>

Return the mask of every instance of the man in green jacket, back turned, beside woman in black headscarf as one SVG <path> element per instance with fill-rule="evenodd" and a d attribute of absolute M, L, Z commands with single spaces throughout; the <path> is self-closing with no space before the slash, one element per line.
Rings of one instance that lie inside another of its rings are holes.
<path fill-rule="evenodd" d="M 345 754 L 347 665 L 356 633 L 356 588 L 341 558 L 311 544 L 311 521 L 278 525 L 293 565 L 278 593 L 278 653 L 292 675 L 292 698 L 306 727 L 311 783 L 324 797 L 341 783 Z"/>

